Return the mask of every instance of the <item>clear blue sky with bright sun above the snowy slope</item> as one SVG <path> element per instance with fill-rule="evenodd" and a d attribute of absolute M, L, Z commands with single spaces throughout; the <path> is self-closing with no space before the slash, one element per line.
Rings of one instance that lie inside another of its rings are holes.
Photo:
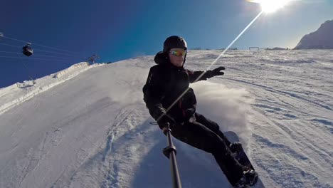
<path fill-rule="evenodd" d="M 234 47 L 293 48 L 302 36 L 332 20 L 332 10 L 331 0 L 292 1 L 260 16 Z M 171 35 L 184 36 L 189 48 L 223 48 L 260 11 L 259 4 L 245 0 L 1 1 L 4 36 L 75 53 L 33 45 L 33 56 L 20 59 L 15 52 L 21 54 L 17 46 L 25 43 L 0 38 L 0 88 L 28 79 L 22 63 L 40 78 L 94 53 L 99 62 L 154 55 Z"/>

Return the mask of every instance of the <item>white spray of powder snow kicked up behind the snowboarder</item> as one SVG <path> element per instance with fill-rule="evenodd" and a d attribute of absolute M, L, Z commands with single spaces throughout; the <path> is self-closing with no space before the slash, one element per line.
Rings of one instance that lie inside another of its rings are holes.
<path fill-rule="evenodd" d="M 250 110 L 253 99 L 245 89 L 227 88 L 221 83 L 201 81 L 191 85 L 198 100 L 198 113 L 215 121 L 223 132 L 233 131 L 247 148 L 250 125 L 246 110 Z"/>

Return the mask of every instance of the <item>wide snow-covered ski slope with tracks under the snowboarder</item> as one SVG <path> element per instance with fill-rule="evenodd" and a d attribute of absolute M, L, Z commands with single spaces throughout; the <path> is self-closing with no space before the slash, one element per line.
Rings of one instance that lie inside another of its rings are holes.
<path fill-rule="evenodd" d="M 204 70 L 221 51 L 189 51 Z M 0 187 L 171 187 L 166 137 L 142 100 L 154 56 L 0 89 Z M 238 133 L 265 187 L 333 187 L 333 51 L 230 51 L 191 85 L 198 112 Z M 42 92 L 41 92 L 42 91 Z M 174 140 L 183 187 L 231 187 Z"/>

